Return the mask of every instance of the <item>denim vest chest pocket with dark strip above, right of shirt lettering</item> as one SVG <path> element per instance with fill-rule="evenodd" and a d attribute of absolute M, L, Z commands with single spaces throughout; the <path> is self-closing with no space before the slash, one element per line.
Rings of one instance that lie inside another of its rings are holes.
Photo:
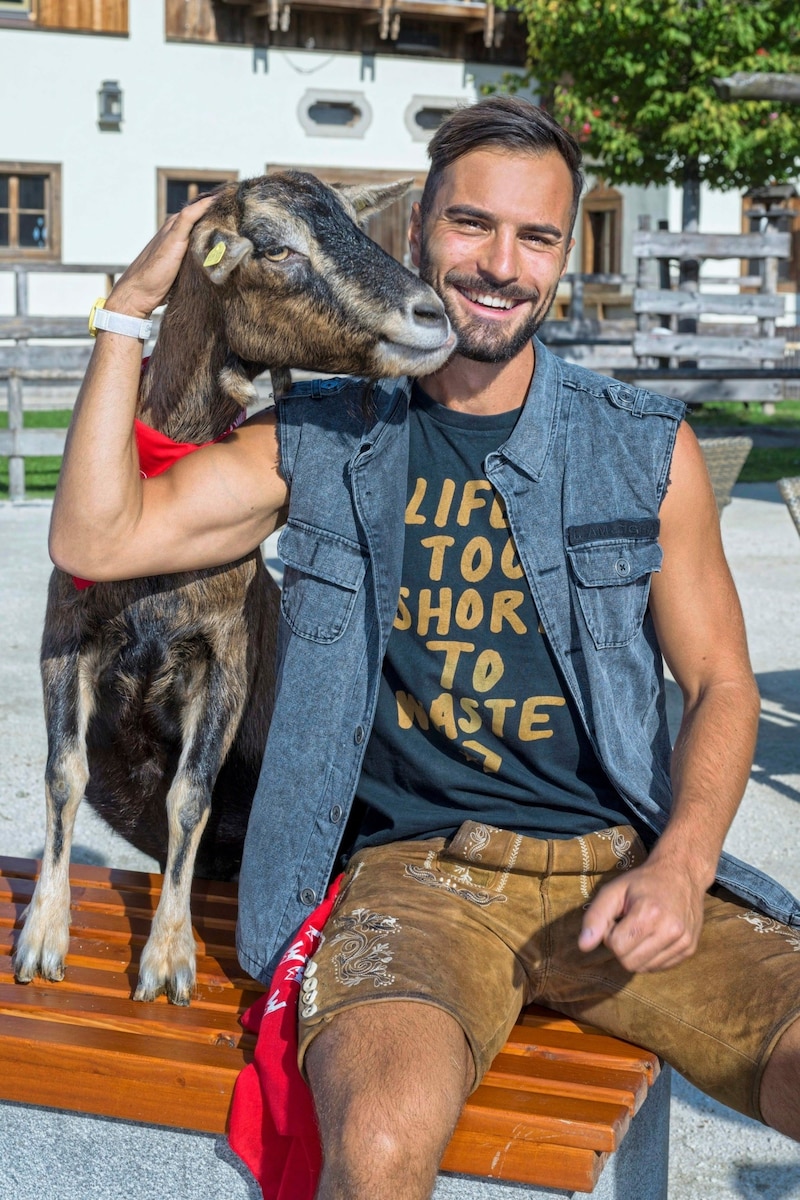
<path fill-rule="evenodd" d="M 566 552 L 595 646 L 627 646 L 642 628 L 650 575 L 661 569 L 661 546 L 655 538 L 614 540 L 567 546 Z"/>

